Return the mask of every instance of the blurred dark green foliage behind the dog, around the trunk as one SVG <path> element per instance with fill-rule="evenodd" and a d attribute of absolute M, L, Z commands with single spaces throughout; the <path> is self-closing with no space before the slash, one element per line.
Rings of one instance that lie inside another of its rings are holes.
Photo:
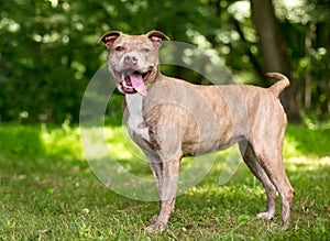
<path fill-rule="evenodd" d="M 301 108 L 327 119 L 329 4 L 295 2 L 274 0 L 298 97 L 306 97 Z M 107 58 L 96 42 L 109 30 L 140 34 L 158 29 L 172 40 L 211 48 L 240 83 L 258 84 L 262 74 L 246 0 L 12 0 L 1 3 L 0 19 L 1 121 L 77 122 L 87 84 Z M 187 69 L 173 67 L 167 74 L 200 81 Z"/>

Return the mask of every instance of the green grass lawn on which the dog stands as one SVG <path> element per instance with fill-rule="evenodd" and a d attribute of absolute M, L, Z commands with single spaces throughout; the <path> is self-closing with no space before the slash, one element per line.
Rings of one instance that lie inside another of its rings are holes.
<path fill-rule="evenodd" d="M 219 186 L 228 151 L 177 198 L 167 230 L 148 234 L 158 204 L 125 198 L 99 182 L 78 128 L 2 124 L 0 136 L 0 240 L 330 240 L 330 129 L 288 128 L 285 165 L 296 199 L 286 232 L 276 228 L 279 206 L 273 221 L 255 220 L 265 195 L 245 165 Z M 151 177 L 121 127 L 107 128 L 106 140 L 122 166 Z"/>

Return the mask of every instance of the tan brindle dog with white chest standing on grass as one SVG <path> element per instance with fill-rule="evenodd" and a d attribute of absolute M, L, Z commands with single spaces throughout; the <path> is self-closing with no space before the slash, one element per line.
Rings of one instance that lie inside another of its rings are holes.
<path fill-rule="evenodd" d="M 268 73 L 277 81 L 261 88 L 200 86 L 167 77 L 161 73 L 158 59 L 164 40 L 169 39 L 160 31 L 142 35 L 111 31 L 98 41 L 107 46 L 109 70 L 125 95 L 128 131 L 145 153 L 156 182 L 160 212 L 146 230 L 166 229 L 174 212 L 183 157 L 217 152 L 234 143 L 266 191 L 266 211 L 256 217 L 273 219 L 278 191 L 282 229 L 288 229 L 295 190 L 283 165 L 287 119 L 278 96 L 289 80 L 279 73 Z"/>

